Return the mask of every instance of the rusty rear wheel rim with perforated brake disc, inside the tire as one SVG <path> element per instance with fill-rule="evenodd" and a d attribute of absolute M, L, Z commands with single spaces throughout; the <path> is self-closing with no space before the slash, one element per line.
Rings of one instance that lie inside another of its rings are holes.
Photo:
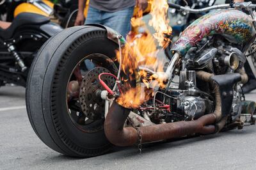
<path fill-rule="evenodd" d="M 105 101 L 100 98 L 104 90 L 98 75 L 102 72 L 116 73 L 113 61 L 104 54 L 90 54 L 74 67 L 67 82 L 67 111 L 76 128 L 95 133 L 104 128 Z M 104 75 L 102 80 L 113 88 L 113 77 Z"/>

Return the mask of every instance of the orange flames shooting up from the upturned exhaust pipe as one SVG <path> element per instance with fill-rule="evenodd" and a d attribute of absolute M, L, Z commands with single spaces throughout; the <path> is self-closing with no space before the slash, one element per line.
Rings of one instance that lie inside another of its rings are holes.
<path fill-rule="evenodd" d="M 138 108 L 143 102 L 152 97 L 152 88 L 156 86 L 163 88 L 165 86 L 161 80 L 154 81 L 161 77 L 160 75 L 157 75 L 156 78 L 154 73 L 148 74 L 145 70 L 138 72 L 136 69 L 139 66 L 144 66 L 150 68 L 153 72 L 163 72 L 164 63 L 157 59 L 159 50 L 157 50 L 155 38 L 162 47 L 166 47 L 170 42 L 166 38 L 166 35 L 172 33 L 172 28 L 168 26 L 169 20 L 166 19 L 167 10 L 168 4 L 166 1 L 155 0 L 152 2 L 150 25 L 156 29 L 153 36 L 145 26 L 142 17 L 131 19 L 133 29 L 126 38 L 127 43 L 122 47 L 122 71 L 125 74 L 122 76 L 122 88 L 125 92 L 116 100 L 118 104 L 124 107 Z M 142 16 L 141 11 L 138 16 Z M 119 51 L 116 52 L 116 57 L 120 61 Z M 134 77 L 142 79 L 144 85 L 132 88 L 131 82 L 134 81 Z"/>

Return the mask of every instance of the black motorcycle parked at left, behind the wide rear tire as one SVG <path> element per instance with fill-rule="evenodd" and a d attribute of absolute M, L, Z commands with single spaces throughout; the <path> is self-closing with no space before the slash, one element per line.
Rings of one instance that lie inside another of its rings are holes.
<path fill-rule="evenodd" d="M 0 28 L 0 86 L 26 86 L 29 67 L 36 52 L 62 28 L 47 17 L 20 13 L 7 29 Z"/>

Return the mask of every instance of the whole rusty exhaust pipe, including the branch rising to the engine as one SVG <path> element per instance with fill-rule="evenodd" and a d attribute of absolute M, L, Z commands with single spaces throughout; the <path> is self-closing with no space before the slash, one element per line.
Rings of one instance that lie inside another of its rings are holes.
<path fill-rule="evenodd" d="M 214 87 L 215 109 L 211 114 L 206 114 L 198 120 L 177 121 L 174 123 L 163 123 L 159 125 L 148 125 L 145 127 L 124 127 L 124 123 L 131 112 L 117 102 L 113 102 L 105 120 L 104 130 L 108 140 L 116 146 L 130 146 L 141 140 L 142 143 L 163 141 L 190 134 L 212 134 L 220 132 L 225 126 L 227 115 L 223 117 L 221 107 L 220 87 L 212 80 L 211 73 L 199 71 L 196 76 Z M 242 77 L 242 76 L 241 76 Z M 233 76 L 232 83 L 241 80 L 241 77 Z"/>

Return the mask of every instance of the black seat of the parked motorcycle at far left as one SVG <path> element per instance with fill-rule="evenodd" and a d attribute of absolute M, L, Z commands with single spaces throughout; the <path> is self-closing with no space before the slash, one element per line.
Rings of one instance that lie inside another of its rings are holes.
<path fill-rule="evenodd" d="M 47 22 L 50 22 L 50 19 L 43 15 L 35 13 L 20 13 L 15 17 L 15 19 L 13 19 L 10 27 L 7 29 L 0 28 L 0 37 L 4 40 L 8 40 L 12 38 L 15 30 L 20 26 L 46 24 Z"/>

